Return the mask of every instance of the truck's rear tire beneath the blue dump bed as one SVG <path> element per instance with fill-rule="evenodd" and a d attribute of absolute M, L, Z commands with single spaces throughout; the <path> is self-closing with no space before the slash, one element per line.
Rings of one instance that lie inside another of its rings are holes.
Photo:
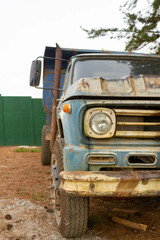
<path fill-rule="evenodd" d="M 42 165 L 51 164 L 50 141 L 46 140 L 46 126 L 42 128 L 42 149 L 41 149 L 41 163 Z"/>

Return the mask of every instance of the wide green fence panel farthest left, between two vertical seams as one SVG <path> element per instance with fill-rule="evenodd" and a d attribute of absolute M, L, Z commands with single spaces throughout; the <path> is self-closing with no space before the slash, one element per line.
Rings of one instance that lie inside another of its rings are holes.
<path fill-rule="evenodd" d="M 34 145 L 31 98 L 4 97 L 5 145 Z"/>

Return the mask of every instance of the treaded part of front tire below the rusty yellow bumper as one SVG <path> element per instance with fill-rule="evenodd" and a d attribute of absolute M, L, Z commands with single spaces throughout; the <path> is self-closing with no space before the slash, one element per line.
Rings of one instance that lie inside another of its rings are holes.
<path fill-rule="evenodd" d="M 88 198 L 60 194 L 60 206 L 56 206 L 55 216 L 62 236 L 81 236 L 87 229 Z"/>

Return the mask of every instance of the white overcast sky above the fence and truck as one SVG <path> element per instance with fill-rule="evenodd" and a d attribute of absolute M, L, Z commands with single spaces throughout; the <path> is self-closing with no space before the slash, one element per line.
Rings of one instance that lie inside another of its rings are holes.
<path fill-rule="evenodd" d="M 32 60 L 45 46 L 121 51 L 124 40 L 88 39 L 80 26 L 123 27 L 125 0 L 0 0 L 0 94 L 40 98 L 29 86 Z"/>

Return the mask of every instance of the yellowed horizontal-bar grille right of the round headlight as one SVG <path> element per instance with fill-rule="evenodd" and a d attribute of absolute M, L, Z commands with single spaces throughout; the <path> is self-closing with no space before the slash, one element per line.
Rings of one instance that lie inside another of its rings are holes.
<path fill-rule="evenodd" d="M 115 109 L 116 137 L 160 138 L 160 111 Z"/>

